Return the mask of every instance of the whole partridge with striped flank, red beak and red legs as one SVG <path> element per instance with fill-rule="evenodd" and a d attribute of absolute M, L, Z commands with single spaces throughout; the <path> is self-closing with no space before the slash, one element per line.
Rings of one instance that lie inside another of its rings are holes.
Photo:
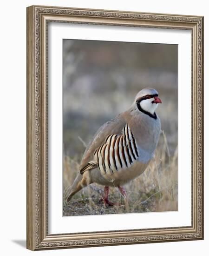
<path fill-rule="evenodd" d="M 108 199 L 109 187 L 119 189 L 125 198 L 123 185 L 143 174 L 157 147 L 161 121 L 156 114 L 162 103 L 157 90 L 140 90 L 131 107 L 102 125 L 85 149 L 78 174 L 68 189 L 69 202 L 79 190 L 95 182 L 104 185 L 100 201 L 105 206 L 118 205 Z"/>

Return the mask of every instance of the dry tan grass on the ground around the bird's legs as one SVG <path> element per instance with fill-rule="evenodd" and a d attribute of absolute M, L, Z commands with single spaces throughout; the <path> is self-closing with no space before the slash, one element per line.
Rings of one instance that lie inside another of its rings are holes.
<path fill-rule="evenodd" d="M 121 206 L 104 207 L 103 203 L 98 203 L 104 187 L 95 183 L 79 191 L 66 203 L 67 188 L 77 175 L 79 161 L 79 158 L 64 157 L 64 216 L 177 210 L 177 148 L 171 155 L 164 132 L 160 136 L 155 158 L 145 172 L 124 185 L 127 197 L 124 199 L 117 188 L 111 188 L 110 200 L 120 202 Z"/>

